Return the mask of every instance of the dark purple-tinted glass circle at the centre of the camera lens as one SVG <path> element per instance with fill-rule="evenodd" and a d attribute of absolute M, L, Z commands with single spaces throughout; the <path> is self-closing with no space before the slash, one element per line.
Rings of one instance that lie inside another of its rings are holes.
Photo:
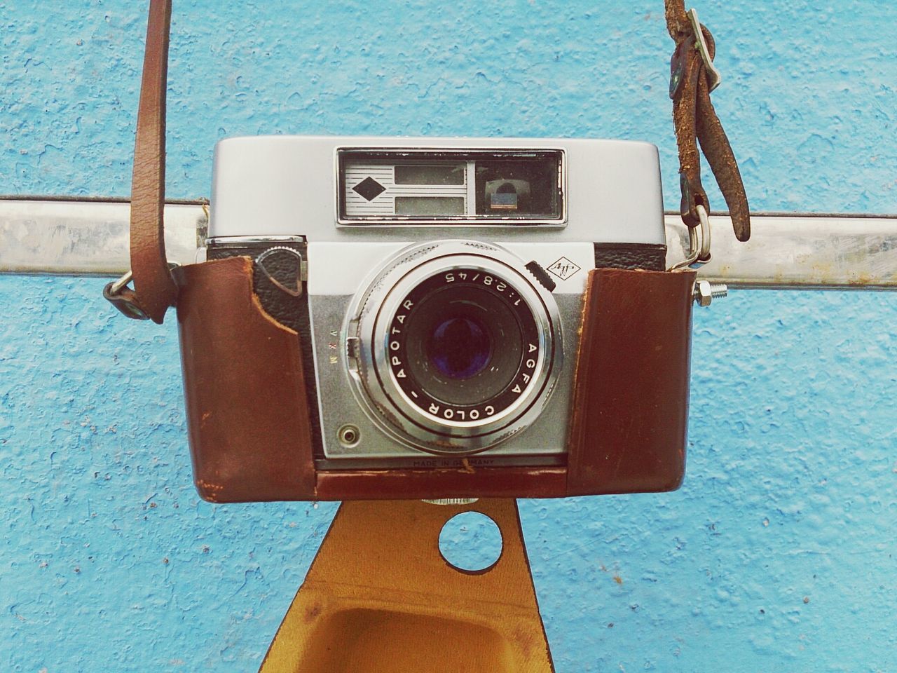
<path fill-rule="evenodd" d="M 468 379 L 489 363 L 492 340 L 479 320 L 463 316 L 449 318 L 433 331 L 427 355 L 449 379 Z"/>

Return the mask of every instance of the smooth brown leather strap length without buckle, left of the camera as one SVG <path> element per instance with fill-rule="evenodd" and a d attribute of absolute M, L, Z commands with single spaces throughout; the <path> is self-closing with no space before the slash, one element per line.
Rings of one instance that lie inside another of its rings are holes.
<path fill-rule="evenodd" d="M 131 270 L 135 289 L 133 295 L 126 296 L 157 323 L 178 298 L 178 287 L 165 257 L 163 221 L 170 22 L 171 0 L 151 0 L 131 181 Z"/>

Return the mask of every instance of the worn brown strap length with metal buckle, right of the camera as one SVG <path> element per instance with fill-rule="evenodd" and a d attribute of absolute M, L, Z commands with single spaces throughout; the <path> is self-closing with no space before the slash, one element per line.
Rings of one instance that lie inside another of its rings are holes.
<path fill-rule="evenodd" d="M 726 199 L 736 238 L 748 240 L 751 237 L 751 217 L 745 185 L 738 171 L 735 153 L 710 102 L 707 69 L 695 47 L 696 37 L 685 13 L 684 0 L 665 0 L 665 3 L 666 29 L 676 44 L 670 61 L 670 98 L 673 99 L 673 123 L 679 147 L 683 222 L 690 227 L 699 223 L 698 205 L 703 205 L 710 212 L 707 193 L 701 186 L 697 138 L 717 179 L 719 190 Z M 701 32 L 712 59 L 716 52 L 713 37 L 703 25 Z"/>

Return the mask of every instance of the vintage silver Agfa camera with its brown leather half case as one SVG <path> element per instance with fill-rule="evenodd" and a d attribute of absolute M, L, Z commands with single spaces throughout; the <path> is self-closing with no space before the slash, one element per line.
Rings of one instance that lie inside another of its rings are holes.
<path fill-rule="evenodd" d="M 195 266 L 251 259 L 256 309 L 297 342 L 299 361 L 239 337 L 237 308 L 187 301 L 185 315 L 205 310 L 213 323 L 182 330 L 194 342 L 184 372 L 196 483 L 209 499 L 681 481 L 693 274 L 665 271 L 651 144 L 223 140 L 206 257 Z M 196 349 L 203 363 L 188 363 Z M 302 389 L 248 384 L 229 374 L 239 366 L 254 379 L 300 369 Z M 252 424 L 265 427 L 240 429 Z"/>

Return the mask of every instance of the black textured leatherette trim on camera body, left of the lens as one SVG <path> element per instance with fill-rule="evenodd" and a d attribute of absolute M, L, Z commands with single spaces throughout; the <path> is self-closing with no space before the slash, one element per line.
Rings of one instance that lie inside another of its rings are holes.
<path fill-rule="evenodd" d="M 309 399 L 309 420 L 311 422 L 311 439 L 314 442 L 315 454 L 323 452 L 321 441 L 321 423 L 318 413 L 318 378 L 315 375 L 315 356 L 312 352 L 314 341 L 311 335 L 309 319 L 309 294 L 300 281 L 300 258 L 284 250 L 283 256 L 268 255 L 262 268 L 255 259 L 266 250 L 289 248 L 300 252 L 301 258 L 308 260 L 308 244 L 305 241 L 258 241 L 236 243 L 211 243 L 206 251 L 208 259 L 223 259 L 246 256 L 253 259 L 252 289 L 261 302 L 266 313 L 281 325 L 291 328 L 299 335 L 302 353 L 302 373 L 305 375 Z M 278 287 L 301 288 L 300 296 L 284 292 Z"/>

